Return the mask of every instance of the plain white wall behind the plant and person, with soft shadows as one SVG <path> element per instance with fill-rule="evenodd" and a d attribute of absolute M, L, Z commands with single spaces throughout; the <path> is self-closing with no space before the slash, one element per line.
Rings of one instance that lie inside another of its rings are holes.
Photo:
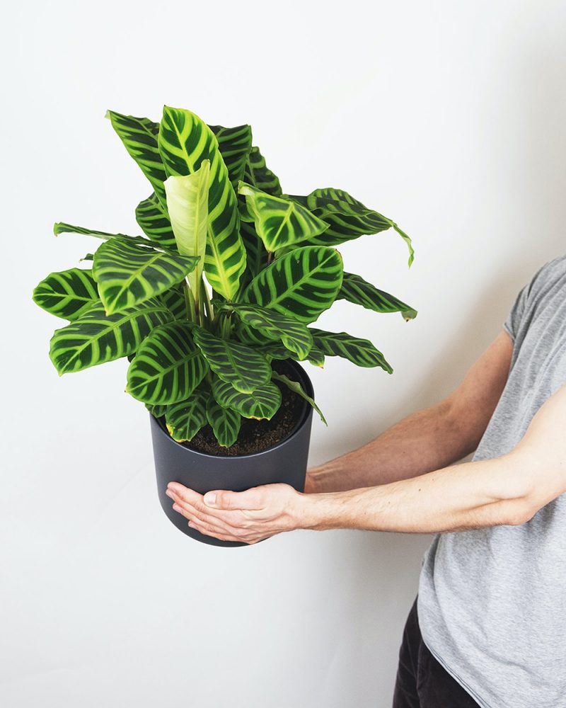
<path fill-rule="evenodd" d="M 0 704 L 387 708 L 429 537 L 188 539 L 125 362 L 59 379 L 31 291 L 98 245 L 53 222 L 139 232 L 151 188 L 107 108 L 250 122 L 284 190 L 344 188 L 414 239 L 410 269 L 392 232 L 340 250 L 415 321 L 320 319 L 394 369 L 309 367 L 311 463 L 357 447 L 449 394 L 564 250 L 564 4 L 21 2 L 3 24 Z"/>

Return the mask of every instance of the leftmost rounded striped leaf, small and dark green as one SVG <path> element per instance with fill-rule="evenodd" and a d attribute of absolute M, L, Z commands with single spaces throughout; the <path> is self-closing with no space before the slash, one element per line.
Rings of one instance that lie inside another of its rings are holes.
<path fill-rule="evenodd" d="M 71 268 L 50 273 L 35 286 L 33 302 L 51 314 L 75 320 L 100 303 L 92 270 Z"/>

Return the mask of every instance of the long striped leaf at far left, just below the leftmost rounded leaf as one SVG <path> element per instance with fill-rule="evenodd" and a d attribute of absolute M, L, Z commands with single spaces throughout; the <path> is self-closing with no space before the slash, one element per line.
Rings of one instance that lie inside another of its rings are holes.
<path fill-rule="evenodd" d="M 91 307 L 71 324 L 57 329 L 50 342 L 50 358 L 59 375 L 133 354 L 154 327 L 171 313 L 157 299 L 106 315 L 102 304 Z"/>

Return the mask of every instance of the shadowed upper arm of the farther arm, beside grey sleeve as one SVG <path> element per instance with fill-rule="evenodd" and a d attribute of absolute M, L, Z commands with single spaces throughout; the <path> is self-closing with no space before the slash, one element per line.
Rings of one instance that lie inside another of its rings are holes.
<path fill-rule="evenodd" d="M 468 441 L 468 452 L 478 447 L 495 411 L 507 382 L 512 353 L 511 337 L 502 329 L 470 367 L 461 384 L 446 398 L 455 425 Z"/>

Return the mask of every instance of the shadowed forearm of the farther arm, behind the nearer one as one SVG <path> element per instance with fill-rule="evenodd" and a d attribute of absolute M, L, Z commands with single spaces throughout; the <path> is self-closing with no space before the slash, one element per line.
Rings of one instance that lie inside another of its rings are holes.
<path fill-rule="evenodd" d="M 448 401 L 412 413 L 358 450 L 308 470 L 305 491 L 387 484 L 447 467 L 475 450 Z"/>

